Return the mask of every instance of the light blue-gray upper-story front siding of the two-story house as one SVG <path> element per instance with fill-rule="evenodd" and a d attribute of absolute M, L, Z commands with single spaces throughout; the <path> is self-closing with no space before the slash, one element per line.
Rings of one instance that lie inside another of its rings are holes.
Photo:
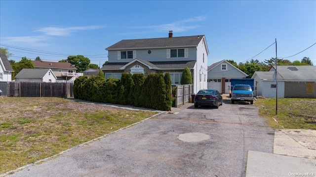
<path fill-rule="evenodd" d="M 184 49 L 186 47 L 177 47 L 177 48 L 169 48 L 169 49 Z M 151 51 L 151 54 L 148 54 L 148 50 Z M 129 50 L 121 50 L 121 51 L 129 51 Z M 164 49 L 139 49 L 136 50 L 136 58 L 144 59 L 147 61 L 188 61 L 188 60 L 196 60 L 197 48 L 191 47 L 188 48 L 188 58 L 169 58 L 167 59 L 167 48 Z M 118 51 L 108 51 L 109 54 L 109 62 L 130 62 L 133 59 L 118 59 Z"/>

